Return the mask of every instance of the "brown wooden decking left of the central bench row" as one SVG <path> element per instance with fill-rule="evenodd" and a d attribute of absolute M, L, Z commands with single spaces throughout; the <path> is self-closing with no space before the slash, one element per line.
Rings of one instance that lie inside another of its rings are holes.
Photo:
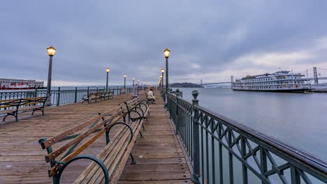
<path fill-rule="evenodd" d="M 20 114 L 18 122 L 8 116 L 6 122 L 0 123 L 0 183 L 52 183 L 52 178 L 48 177 L 50 164 L 45 162 L 46 151 L 42 150 L 38 139 L 58 135 L 130 98 L 131 95 L 125 94 L 89 105 L 79 102 L 45 107 L 45 116 L 37 112 L 34 116 L 24 113 Z M 97 155 L 105 145 L 103 135 L 83 153 Z M 88 164 L 78 162 L 70 166 L 67 170 L 70 177 L 65 178 L 65 182 L 74 181 Z"/>

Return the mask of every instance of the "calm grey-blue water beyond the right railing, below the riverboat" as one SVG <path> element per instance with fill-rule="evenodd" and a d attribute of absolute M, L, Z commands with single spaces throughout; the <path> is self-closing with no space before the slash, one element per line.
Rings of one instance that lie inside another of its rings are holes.
<path fill-rule="evenodd" d="M 196 90 L 199 105 L 327 160 L 327 93 Z"/>

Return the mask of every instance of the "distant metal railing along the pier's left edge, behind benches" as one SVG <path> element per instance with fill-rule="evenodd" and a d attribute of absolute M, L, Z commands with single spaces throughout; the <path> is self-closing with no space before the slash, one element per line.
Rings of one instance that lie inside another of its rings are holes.
<path fill-rule="evenodd" d="M 132 88 L 128 87 L 125 89 L 126 93 L 131 93 Z M 84 95 L 89 95 L 89 93 L 102 93 L 106 91 L 106 87 L 87 87 L 84 89 L 61 89 L 60 87 L 57 90 L 51 90 L 50 100 L 52 105 L 65 105 L 68 103 L 81 102 Z M 119 95 L 124 93 L 124 87 L 108 87 L 108 91 L 111 91 L 113 95 Z M 32 97 L 43 97 L 47 95 L 45 89 L 35 89 L 29 91 L 6 91 L 0 92 L 0 100 L 8 99 L 18 99 L 18 98 L 32 98 Z"/>

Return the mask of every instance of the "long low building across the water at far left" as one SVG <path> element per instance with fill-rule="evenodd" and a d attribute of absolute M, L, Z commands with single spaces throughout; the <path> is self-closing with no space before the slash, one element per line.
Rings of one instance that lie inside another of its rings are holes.
<path fill-rule="evenodd" d="M 44 82 L 25 79 L 3 79 L 0 78 L 1 89 L 34 89 L 43 88 Z"/>

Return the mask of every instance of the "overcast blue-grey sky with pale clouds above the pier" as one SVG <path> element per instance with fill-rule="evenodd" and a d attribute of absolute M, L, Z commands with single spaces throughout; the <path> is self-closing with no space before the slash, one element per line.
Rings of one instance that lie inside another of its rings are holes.
<path fill-rule="evenodd" d="M 157 84 L 327 68 L 327 1 L 1 1 L 0 78 Z"/>

